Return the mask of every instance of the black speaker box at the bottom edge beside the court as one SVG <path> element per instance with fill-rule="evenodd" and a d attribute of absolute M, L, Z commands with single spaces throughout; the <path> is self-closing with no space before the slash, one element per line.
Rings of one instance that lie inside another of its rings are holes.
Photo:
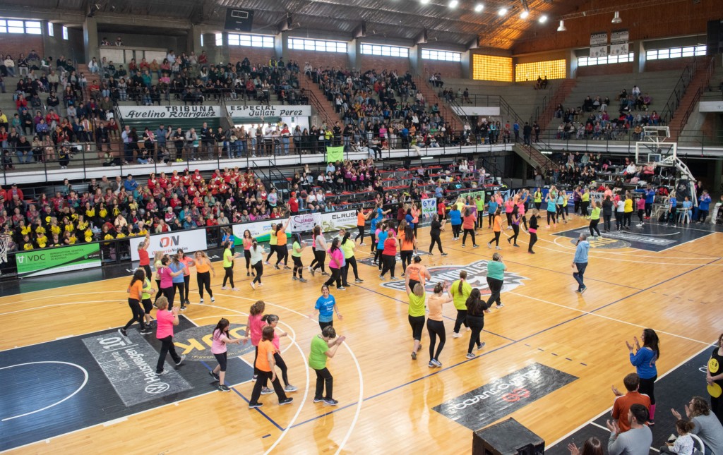
<path fill-rule="evenodd" d="M 472 436 L 472 455 L 542 455 L 544 440 L 509 418 Z"/>

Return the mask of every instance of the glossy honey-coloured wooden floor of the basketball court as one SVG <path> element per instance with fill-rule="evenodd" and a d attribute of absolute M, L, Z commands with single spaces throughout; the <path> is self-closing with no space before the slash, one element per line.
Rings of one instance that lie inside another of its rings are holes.
<path fill-rule="evenodd" d="M 513 278 L 502 294 L 504 308 L 485 317 L 482 341 L 487 345 L 477 358 L 465 358 L 468 332 L 462 332 L 460 339 L 451 337 L 456 312 L 450 303 L 444 309 L 448 319 L 447 342 L 440 356 L 442 368 L 427 366 L 426 330 L 419 360 L 411 360 L 406 296 L 389 281 L 382 286 L 376 267 L 359 264 L 364 282 L 345 291 L 333 290 L 344 316 L 343 321 L 335 319 L 334 326 L 347 337 L 329 362 L 339 405 L 314 404 L 315 374 L 307 368 L 306 359 L 310 340 L 319 333 L 319 326 L 306 315 L 320 295 L 325 277 L 317 274 L 312 278 L 307 272 L 304 276 L 309 282 L 302 284 L 291 280 L 290 270 L 265 267 L 264 286 L 254 291 L 241 259 L 236 261 L 236 285 L 241 291 L 234 293 L 221 291 L 223 269 L 216 262 L 215 303 L 210 303 L 208 297 L 205 304 L 197 303 L 192 273 L 192 305 L 184 317 L 199 326 L 213 327 L 221 317 L 232 324 L 245 324 L 249 306 L 255 300 L 265 300 L 265 312 L 278 314 L 280 328 L 290 335 L 281 342 L 291 383 L 299 387 L 290 394 L 294 397 L 291 406 L 278 407 L 272 394 L 262 397 L 265 405 L 260 410 L 248 410 L 252 382 L 232 384 L 234 391 L 223 394 L 215 391 L 205 374 L 204 381 L 190 384 L 197 394 L 189 399 L 157 400 L 141 412 L 129 412 L 126 417 L 25 445 L 4 439 L 0 449 L 33 454 L 98 449 L 111 454 L 221 453 L 239 449 L 249 454 L 382 454 L 417 449 L 466 453 L 471 448 L 469 428 L 432 408 L 533 364 L 576 379 L 554 387 L 529 404 L 520 404 L 516 410 L 502 410 L 497 419 L 514 417 L 550 446 L 611 406 L 610 386 L 622 388 L 623 376 L 634 371 L 628 362 L 625 340 L 632 342 L 633 336 L 640 337 L 645 327 L 655 329 L 661 339 L 658 370 L 663 375 L 711 345 L 723 327 L 719 303 L 723 233 L 711 231 L 709 225 L 667 228 L 651 224 L 633 228 L 633 234 L 644 235 L 633 235 L 627 242 L 602 242 L 591 250 L 586 271 L 589 289 L 578 295 L 570 274 L 573 243 L 565 235 L 554 235 L 586 227 L 586 221 L 573 218 L 556 230 L 545 229 L 543 218 L 535 255 L 527 254 L 526 233 L 521 233 L 521 248 L 509 246 L 502 237 L 501 253 Z M 510 233 L 505 231 L 506 235 Z M 442 257 L 435 251 L 433 256 L 423 256 L 423 263 L 437 267 L 435 270 L 442 274 L 456 274 L 461 267 L 480 267 L 476 263 L 490 259 L 494 250 L 484 246 L 492 235 L 490 230 L 485 227 L 478 235 L 484 238 L 478 239 L 481 248 L 471 248 L 471 241 L 461 248 L 461 241 L 451 240 L 448 228 L 442 233 L 442 241 L 449 256 Z M 675 241 L 667 243 L 669 248 L 664 251 L 633 248 L 643 245 L 638 241 L 656 243 L 656 238 Z M 422 251 L 427 249 L 428 229 L 419 230 L 419 243 Z M 310 249 L 304 251 L 304 264 L 312 259 Z M 359 247 L 357 260 L 368 259 L 368 251 L 369 246 Z M 398 265 L 398 276 L 400 269 Z M 484 282 L 482 275 L 474 279 Z M 17 348 L 121 326 L 130 317 L 128 282 L 129 277 L 122 277 L 64 287 L 63 276 L 56 275 L 54 289 L 1 297 L 0 355 L 7 358 Z M 45 346 L 51 344 L 40 344 L 38 349 Z M 243 358 L 251 363 L 253 353 Z M 19 368 L 10 368 L 17 361 L 8 364 L 3 359 L 0 357 L 0 373 Z M 33 355 L 22 360 L 33 363 Z M 187 362 L 181 368 L 205 373 L 205 365 L 213 368 L 215 363 Z M 90 376 L 88 386 L 104 379 Z M 5 399 L 17 400 L 15 407 L 35 412 L 51 404 L 43 400 L 35 404 L 35 400 L 53 381 L 52 375 L 46 375 L 43 381 L 26 377 L 23 384 L 32 385 L 25 389 L 13 384 Z M 90 406 L 98 412 L 103 408 L 103 396 L 95 400 Z M 658 401 L 664 403 L 664 397 L 658 397 Z M 477 412 L 499 414 L 499 409 L 489 409 L 491 401 L 487 406 Z M 661 404 L 658 412 L 667 412 L 669 407 Z M 22 418 L 30 417 L 36 425 L 38 420 L 52 423 L 82 412 L 90 412 L 88 404 L 74 403 L 70 398 Z M 0 423 L 0 428 L 3 426 L 7 429 L 7 422 Z M 12 435 L 6 436 L 12 441 Z"/>

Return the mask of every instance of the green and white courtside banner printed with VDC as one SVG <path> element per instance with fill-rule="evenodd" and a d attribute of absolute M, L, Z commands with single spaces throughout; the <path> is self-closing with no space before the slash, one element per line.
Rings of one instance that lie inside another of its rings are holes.
<path fill-rule="evenodd" d="M 100 267 L 98 243 L 44 248 L 15 254 L 19 277 L 38 277 L 51 273 Z"/>

